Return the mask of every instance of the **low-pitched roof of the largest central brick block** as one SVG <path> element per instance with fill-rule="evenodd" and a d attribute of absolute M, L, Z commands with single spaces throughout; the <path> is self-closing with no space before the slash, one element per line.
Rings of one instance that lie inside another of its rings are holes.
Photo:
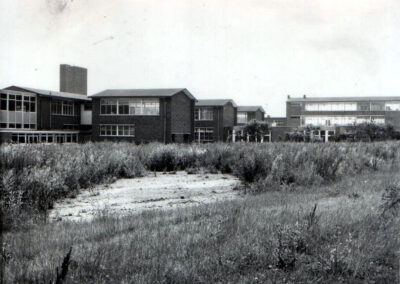
<path fill-rule="evenodd" d="M 196 98 L 186 89 L 108 89 L 100 93 L 91 95 L 92 98 L 97 97 L 172 97 L 180 92 L 183 92 L 190 99 Z"/>

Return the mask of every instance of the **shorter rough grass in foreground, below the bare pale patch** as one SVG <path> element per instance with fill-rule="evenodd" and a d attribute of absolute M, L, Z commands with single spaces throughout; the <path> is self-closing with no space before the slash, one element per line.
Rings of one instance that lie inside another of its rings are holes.
<path fill-rule="evenodd" d="M 67 283 L 395 283 L 400 218 L 380 205 L 397 174 L 9 232 L 5 280 L 54 280 L 72 246 Z"/>

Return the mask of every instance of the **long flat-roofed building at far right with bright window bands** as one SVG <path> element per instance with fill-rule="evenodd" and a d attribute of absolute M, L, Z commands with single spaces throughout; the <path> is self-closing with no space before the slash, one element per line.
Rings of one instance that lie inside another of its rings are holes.
<path fill-rule="evenodd" d="M 287 125 L 318 127 L 326 140 L 339 127 L 363 122 L 400 128 L 400 97 L 300 97 L 288 96 Z"/>

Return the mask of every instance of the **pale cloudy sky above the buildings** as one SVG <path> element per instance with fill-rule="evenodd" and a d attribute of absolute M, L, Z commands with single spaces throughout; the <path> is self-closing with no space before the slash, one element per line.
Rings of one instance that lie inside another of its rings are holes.
<path fill-rule="evenodd" d="M 287 95 L 400 96 L 399 0 L 1 0 L 0 88 L 187 88 L 285 116 Z"/>

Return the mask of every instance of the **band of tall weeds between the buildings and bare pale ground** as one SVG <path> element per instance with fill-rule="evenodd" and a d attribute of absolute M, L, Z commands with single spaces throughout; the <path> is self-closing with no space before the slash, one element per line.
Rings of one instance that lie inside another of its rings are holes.
<path fill-rule="evenodd" d="M 81 188 L 146 171 L 203 168 L 231 173 L 253 192 L 319 185 L 366 170 L 390 169 L 398 164 L 399 149 L 397 142 L 2 145 L 1 205 L 6 223 L 15 223 L 15 216 L 46 212 L 56 200 L 73 197 Z"/>

